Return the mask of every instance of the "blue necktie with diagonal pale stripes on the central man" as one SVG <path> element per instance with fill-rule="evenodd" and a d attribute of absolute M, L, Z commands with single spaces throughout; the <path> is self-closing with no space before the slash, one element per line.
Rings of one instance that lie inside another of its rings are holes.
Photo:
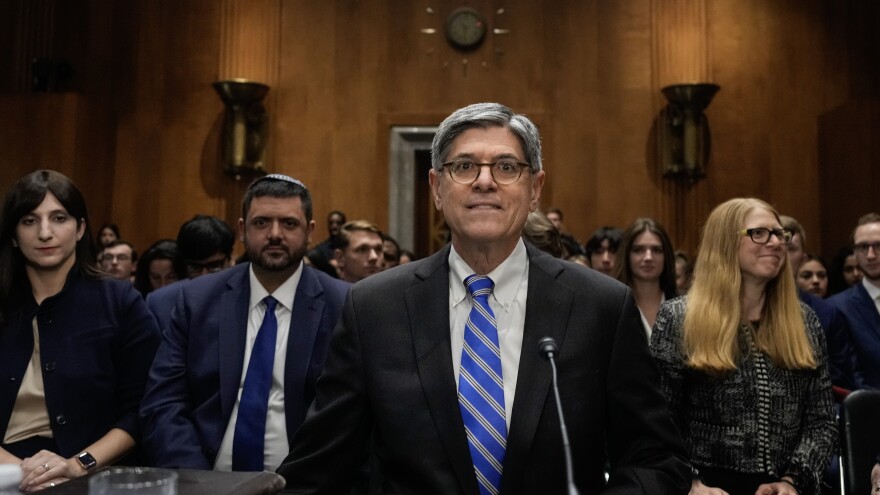
<path fill-rule="evenodd" d="M 498 328 L 495 314 L 489 307 L 489 294 L 495 284 L 489 277 L 471 275 L 465 279 L 464 285 L 474 306 L 464 328 L 458 405 L 480 493 L 494 495 L 501 489 L 507 447 Z"/>

